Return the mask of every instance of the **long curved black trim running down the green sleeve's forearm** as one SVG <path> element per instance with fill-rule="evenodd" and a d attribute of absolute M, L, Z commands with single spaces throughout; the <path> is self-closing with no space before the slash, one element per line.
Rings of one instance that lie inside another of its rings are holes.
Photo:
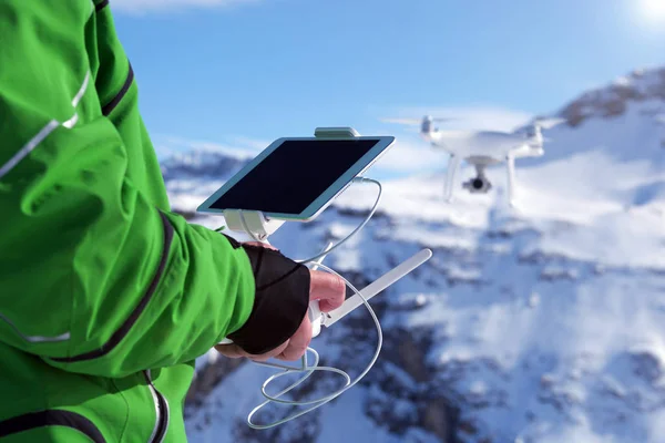
<path fill-rule="evenodd" d="M 164 248 L 162 249 L 162 257 L 160 259 L 160 266 L 157 267 L 157 271 L 153 277 L 150 287 L 145 291 L 145 295 L 139 302 L 139 306 L 132 311 L 132 315 L 125 320 L 124 323 L 111 336 L 109 341 L 106 341 L 100 349 L 95 349 L 94 351 L 81 353 L 79 356 L 73 357 L 61 357 L 61 358 L 50 358 L 53 361 L 62 362 L 62 363 L 74 363 L 78 361 L 92 360 L 98 359 L 100 357 L 104 357 L 109 352 L 111 352 L 121 341 L 125 338 L 125 336 L 130 332 L 130 329 L 134 326 L 147 303 L 150 302 L 155 289 L 157 288 L 157 284 L 164 274 L 164 269 L 166 268 L 166 261 L 168 259 L 168 251 L 171 250 L 171 243 L 173 241 L 173 226 L 171 222 L 166 218 L 166 216 L 160 212 L 160 216 L 162 217 L 162 224 L 164 225 Z"/>

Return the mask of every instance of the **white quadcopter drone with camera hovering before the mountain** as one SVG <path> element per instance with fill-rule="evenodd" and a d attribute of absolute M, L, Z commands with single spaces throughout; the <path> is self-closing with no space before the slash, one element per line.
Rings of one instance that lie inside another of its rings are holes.
<path fill-rule="evenodd" d="M 492 188 L 492 184 L 484 174 L 485 167 L 505 162 L 508 167 L 508 195 L 511 206 L 514 202 L 515 158 L 542 156 L 545 138 L 543 138 L 541 128 L 550 128 L 563 122 L 563 119 L 536 120 L 531 125 L 514 132 L 439 131 L 433 125 L 434 122 L 451 120 L 454 119 L 433 119 L 427 115 L 422 120 L 386 119 L 383 122 L 420 125 L 420 135 L 428 143 L 450 153 L 444 190 L 447 202 L 452 200 L 452 184 L 462 159 L 475 166 L 477 177 L 462 184 L 462 187 L 473 194 L 485 194 Z"/>

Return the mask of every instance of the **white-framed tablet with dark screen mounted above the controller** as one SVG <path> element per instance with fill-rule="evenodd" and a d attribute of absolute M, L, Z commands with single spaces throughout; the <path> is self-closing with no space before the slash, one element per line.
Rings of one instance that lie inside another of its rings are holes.
<path fill-rule="evenodd" d="M 392 136 L 276 140 L 197 210 L 259 210 L 274 219 L 311 220 L 393 142 Z"/>

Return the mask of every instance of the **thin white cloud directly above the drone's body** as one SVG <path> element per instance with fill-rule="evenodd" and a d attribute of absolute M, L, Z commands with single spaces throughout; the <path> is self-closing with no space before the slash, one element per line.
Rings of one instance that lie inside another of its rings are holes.
<path fill-rule="evenodd" d="M 437 125 L 442 130 L 484 130 L 484 131 L 512 131 L 528 123 L 533 115 L 499 106 L 413 106 L 383 111 L 385 117 L 392 119 L 422 119 L 424 115 L 442 119 L 456 119 L 451 122 L 441 122 Z"/>

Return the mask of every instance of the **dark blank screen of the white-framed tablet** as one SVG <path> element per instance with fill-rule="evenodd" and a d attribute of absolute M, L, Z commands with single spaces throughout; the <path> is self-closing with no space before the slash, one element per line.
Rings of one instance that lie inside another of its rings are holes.
<path fill-rule="evenodd" d="M 285 141 L 211 208 L 301 214 L 379 141 Z"/>

